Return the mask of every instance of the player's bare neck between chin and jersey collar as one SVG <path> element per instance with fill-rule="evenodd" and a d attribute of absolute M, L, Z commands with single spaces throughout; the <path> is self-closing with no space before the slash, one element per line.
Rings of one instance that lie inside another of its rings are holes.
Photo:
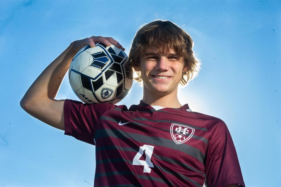
<path fill-rule="evenodd" d="M 166 95 L 155 95 L 155 93 L 144 89 L 142 101 L 150 106 L 156 105 L 164 108 L 180 108 L 182 106 L 179 103 L 177 90 Z"/>

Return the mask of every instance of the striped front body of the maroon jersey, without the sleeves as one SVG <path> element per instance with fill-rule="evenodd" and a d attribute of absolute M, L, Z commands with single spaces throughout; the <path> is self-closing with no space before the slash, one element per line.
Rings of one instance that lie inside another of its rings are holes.
<path fill-rule="evenodd" d="M 203 120 L 188 105 L 155 109 L 121 105 L 102 115 L 94 136 L 95 186 L 203 186 Z"/>

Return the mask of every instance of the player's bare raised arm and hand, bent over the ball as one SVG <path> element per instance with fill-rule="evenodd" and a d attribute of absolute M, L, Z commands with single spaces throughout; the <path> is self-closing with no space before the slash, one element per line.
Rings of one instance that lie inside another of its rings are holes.
<path fill-rule="evenodd" d="M 64 130 L 65 100 L 56 100 L 56 94 L 75 54 L 86 45 L 94 47 L 94 42 L 102 42 L 107 46 L 114 44 L 125 50 L 119 42 L 109 37 L 92 36 L 73 41 L 30 86 L 20 101 L 23 110 L 52 127 Z"/>

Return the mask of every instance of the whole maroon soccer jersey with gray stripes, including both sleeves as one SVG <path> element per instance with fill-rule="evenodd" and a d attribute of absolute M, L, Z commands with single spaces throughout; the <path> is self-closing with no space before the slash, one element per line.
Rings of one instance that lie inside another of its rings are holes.
<path fill-rule="evenodd" d="M 66 135 L 96 146 L 95 186 L 245 186 L 225 123 L 187 104 L 66 100 L 64 122 Z"/>

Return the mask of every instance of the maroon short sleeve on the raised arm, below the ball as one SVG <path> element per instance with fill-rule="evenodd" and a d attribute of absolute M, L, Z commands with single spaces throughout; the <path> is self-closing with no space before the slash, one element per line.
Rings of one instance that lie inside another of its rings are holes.
<path fill-rule="evenodd" d="M 66 99 L 64 102 L 64 134 L 95 145 L 94 133 L 100 117 L 117 105 L 85 104 Z"/>

